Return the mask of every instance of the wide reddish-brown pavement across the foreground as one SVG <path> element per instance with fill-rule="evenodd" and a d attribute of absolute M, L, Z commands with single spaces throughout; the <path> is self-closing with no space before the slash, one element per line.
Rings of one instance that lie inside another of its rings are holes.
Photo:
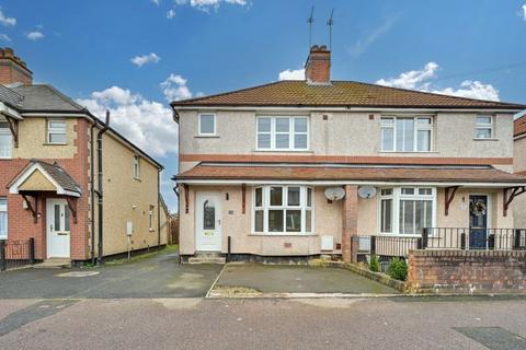
<path fill-rule="evenodd" d="M 515 299 L 0 300 L 5 307 L 0 349 L 526 349 L 526 303 Z"/>

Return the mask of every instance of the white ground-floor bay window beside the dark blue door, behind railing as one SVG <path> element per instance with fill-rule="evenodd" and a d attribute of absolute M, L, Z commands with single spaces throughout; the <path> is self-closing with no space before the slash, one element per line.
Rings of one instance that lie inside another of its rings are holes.
<path fill-rule="evenodd" d="M 380 189 L 379 232 L 420 235 L 433 228 L 436 215 L 436 188 L 392 187 Z"/>

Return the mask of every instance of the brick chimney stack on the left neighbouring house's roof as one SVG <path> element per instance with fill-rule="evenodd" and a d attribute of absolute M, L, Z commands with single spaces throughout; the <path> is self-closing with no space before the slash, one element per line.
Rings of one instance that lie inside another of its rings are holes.
<path fill-rule="evenodd" d="M 14 56 L 10 47 L 0 48 L 0 84 L 11 85 L 21 83 L 31 85 L 33 83 L 33 72 L 20 57 Z"/>

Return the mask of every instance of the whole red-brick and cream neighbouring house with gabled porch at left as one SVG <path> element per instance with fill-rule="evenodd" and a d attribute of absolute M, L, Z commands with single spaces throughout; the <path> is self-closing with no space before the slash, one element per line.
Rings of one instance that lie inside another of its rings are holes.
<path fill-rule="evenodd" d="M 85 261 L 167 242 L 162 165 L 0 49 L 0 240 L 7 258 Z M 129 241 L 127 234 L 130 234 Z M 12 256 L 11 256 L 12 255 Z"/>

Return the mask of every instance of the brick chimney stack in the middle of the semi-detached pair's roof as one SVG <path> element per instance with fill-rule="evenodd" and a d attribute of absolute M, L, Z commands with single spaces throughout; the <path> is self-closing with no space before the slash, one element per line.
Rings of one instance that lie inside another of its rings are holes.
<path fill-rule="evenodd" d="M 305 63 L 305 80 L 309 84 L 331 84 L 331 51 L 325 45 L 315 45 L 310 48 Z"/>

